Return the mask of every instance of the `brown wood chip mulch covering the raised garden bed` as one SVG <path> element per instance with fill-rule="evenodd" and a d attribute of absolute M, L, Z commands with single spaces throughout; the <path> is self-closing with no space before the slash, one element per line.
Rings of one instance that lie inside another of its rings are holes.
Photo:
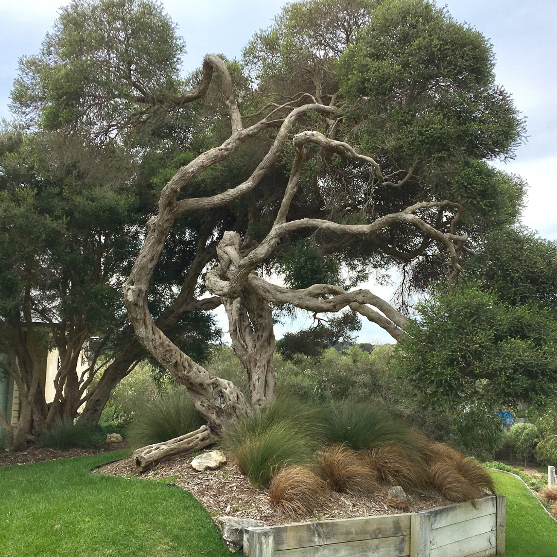
<path fill-rule="evenodd" d="M 213 520 L 221 516 L 234 516 L 261 521 L 264 525 L 325 519 L 354 518 L 357 516 L 399 514 L 432 509 L 450 504 L 435 491 L 408 490 L 409 510 L 390 507 L 385 502 L 390 486 L 382 485 L 370 497 L 339 494 L 331 491 L 323 507 L 313 514 L 288 517 L 277 512 L 268 499 L 268 490 L 256 489 L 243 476 L 234 457 L 223 451 L 226 465 L 218 470 L 197 472 L 190 466 L 191 455 L 178 455 L 160 462 L 146 472 L 138 472 L 131 458 L 109 463 L 94 470 L 111 476 L 141 477 L 148 480 L 168 478 L 168 483 L 189 491 L 206 507 Z"/>

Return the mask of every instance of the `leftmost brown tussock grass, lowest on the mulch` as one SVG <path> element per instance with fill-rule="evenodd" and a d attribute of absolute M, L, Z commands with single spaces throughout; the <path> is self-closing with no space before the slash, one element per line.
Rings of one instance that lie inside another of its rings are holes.
<path fill-rule="evenodd" d="M 306 466 L 288 466 L 273 476 L 269 499 L 279 512 L 296 516 L 320 506 L 326 483 Z"/>

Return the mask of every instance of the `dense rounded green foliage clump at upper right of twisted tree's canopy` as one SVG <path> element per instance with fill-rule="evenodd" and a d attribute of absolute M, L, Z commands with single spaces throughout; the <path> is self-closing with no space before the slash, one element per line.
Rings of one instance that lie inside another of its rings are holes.
<path fill-rule="evenodd" d="M 389 0 L 340 57 L 341 90 L 370 153 L 427 161 L 509 154 L 520 122 L 481 33 L 423 0 Z M 404 168 L 404 167 L 400 167 Z"/>

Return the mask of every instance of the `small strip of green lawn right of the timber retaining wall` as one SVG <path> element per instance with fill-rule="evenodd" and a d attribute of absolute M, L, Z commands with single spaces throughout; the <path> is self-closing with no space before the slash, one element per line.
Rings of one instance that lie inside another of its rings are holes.
<path fill-rule="evenodd" d="M 505 557 L 556 557 L 557 522 L 515 476 L 490 470 L 497 493 L 506 496 Z"/>

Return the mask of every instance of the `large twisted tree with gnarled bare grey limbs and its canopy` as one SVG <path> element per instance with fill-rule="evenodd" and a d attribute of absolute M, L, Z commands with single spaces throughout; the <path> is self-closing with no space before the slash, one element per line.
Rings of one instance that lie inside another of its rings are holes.
<path fill-rule="evenodd" d="M 148 4 L 71 4 L 42 57 L 24 64 L 16 99 L 38 126 L 76 134 L 87 145 L 131 145 L 126 153 L 145 169 L 167 160 L 159 175 L 168 180 L 126 281 L 125 305 L 140 343 L 189 389 L 218 433 L 273 398 L 273 307 L 316 314 L 347 307 L 394 338 L 406 336 L 408 319 L 372 292 L 354 290 L 357 281 L 341 276 L 343 265 L 360 280 L 399 265 L 413 266 L 417 286 L 443 273 L 456 282 L 461 255 L 481 240 L 494 208 L 506 209 L 502 219 L 516 212 L 521 184 L 483 159 L 512 155 L 522 123 L 494 84 L 485 39 L 428 2 L 292 4 L 248 45 L 245 66 L 207 56 L 185 82 L 175 71 L 178 40 L 164 40 L 160 51 L 151 41 L 155 60 L 167 56 L 158 74 L 143 67 L 141 41 L 108 25 L 125 20 L 158 33 L 160 26 L 143 22 L 160 17 Z M 96 45 L 97 31 L 67 40 L 76 22 L 87 27 L 99 17 L 107 22 L 100 34 L 110 40 L 99 39 L 93 59 L 107 66 L 84 55 L 81 41 Z M 292 50 L 295 36 L 300 47 Z M 126 47 L 113 48 L 114 37 Z M 382 51 L 373 50 L 374 41 Z M 402 81 L 385 87 L 388 76 L 382 86 L 383 77 L 369 79 L 372 70 L 385 74 L 393 58 L 402 60 Z M 426 62 L 433 73 L 421 71 Z M 66 75 L 72 64 L 86 67 L 86 79 Z M 161 130 L 181 155 L 163 140 L 149 146 Z M 211 263 L 204 287 L 226 307 L 249 401 L 163 333 L 157 273 L 172 266 L 172 251 L 191 236 L 198 251 L 184 267 L 180 293 L 168 294 L 168 315 L 182 315 L 184 300 L 201 304 L 194 286 Z M 328 272 L 307 272 L 315 262 L 327 263 Z M 290 284 L 272 284 L 270 270 Z M 318 276 L 324 282 L 315 282 Z"/>

